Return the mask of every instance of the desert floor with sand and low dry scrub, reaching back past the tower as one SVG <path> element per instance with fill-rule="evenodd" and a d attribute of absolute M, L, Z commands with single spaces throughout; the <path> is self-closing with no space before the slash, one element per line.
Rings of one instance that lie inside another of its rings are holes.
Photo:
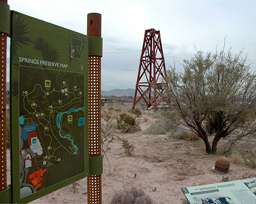
<path fill-rule="evenodd" d="M 161 110 L 147 111 L 139 104 L 136 115 L 131 112 L 132 103 L 132 97 L 112 96 L 101 108 L 103 149 L 107 156 L 103 157 L 102 203 L 111 203 L 115 193 L 136 187 L 153 203 L 184 204 L 188 201 L 181 191 L 183 187 L 256 177 L 256 136 L 242 138 L 228 155 L 223 153 L 231 139 L 221 139 L 217 154 L 207 154 L 204 142 L 191 131 L 166 130 Z M 123 113 L 136 121 L 131 133 L 118 130 L 117 119 Z M 222 156 L 230 161 L 227 173 L 212 168 Z M 31 203 L 87 203 L 87 179 Z"/>

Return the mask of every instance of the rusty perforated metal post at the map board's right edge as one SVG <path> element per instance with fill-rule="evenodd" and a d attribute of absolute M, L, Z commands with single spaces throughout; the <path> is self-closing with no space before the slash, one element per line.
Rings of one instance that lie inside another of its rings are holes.
<path fill-rule="evenodd" d="M 87 35 L 101 37 L 101 15 L 89 13 Z M 90 46 L 90 43 L 89 43 Z M 89 157 L 101 156 L 101 57 L 89 52 Z M 88 203 L 102 203 L 101 175 L 87 178 Z"/>

